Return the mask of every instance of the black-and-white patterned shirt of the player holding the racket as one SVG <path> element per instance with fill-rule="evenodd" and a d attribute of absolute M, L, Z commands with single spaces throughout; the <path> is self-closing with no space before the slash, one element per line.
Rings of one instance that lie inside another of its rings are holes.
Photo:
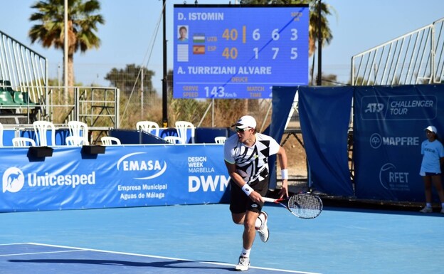
<path fill-rule="evenodd" d="M 268 157 L 279 152 L 280 145 L 268 135 L 256 133 L 256 142 L 251 147 L 239 142 L 238 135 L 226 139 L 223 147 L 224 159 L 230 164 L 236 164 L 236 171 L 243 180 L 250 182 L 262 181 L 270 173 Z"/>

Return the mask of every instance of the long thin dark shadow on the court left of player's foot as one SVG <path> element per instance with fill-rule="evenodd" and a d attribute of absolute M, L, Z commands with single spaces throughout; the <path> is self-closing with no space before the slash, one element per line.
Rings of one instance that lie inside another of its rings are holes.
<path fill-rule="evenodd" d="M 225 265 L 213 265 L 191 260 L 168 260 L 156 262 L 134 262 L 129 260 L 86 260 L 86 259 L 33 259 L 33 260 L 8 260 L 11 263 L 63 263 L 63 264 L 89 264 L 89 265 L 115 265 L 145 268 L 177 268 L 177 269 L 218 269 L 234 271 Z M 181 264 L 190 265 L 181 265 Z M 193 265 L 194 264 L 194 265 Z"/>

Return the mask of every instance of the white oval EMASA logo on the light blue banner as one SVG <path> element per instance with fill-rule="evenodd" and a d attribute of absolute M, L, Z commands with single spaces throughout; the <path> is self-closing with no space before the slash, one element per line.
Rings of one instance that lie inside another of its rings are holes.
<path fill-rule="evenodd" d="M 119 159 L 117 170 L 137 174 L 133 179 L 149 180 L 166 172 L 166 162 L 158 159 L 147 159 L 147 152 L 129 153 Z"/>

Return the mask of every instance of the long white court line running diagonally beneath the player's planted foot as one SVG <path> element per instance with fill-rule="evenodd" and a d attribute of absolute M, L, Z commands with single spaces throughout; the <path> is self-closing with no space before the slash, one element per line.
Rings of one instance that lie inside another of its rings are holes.
<path fill-rule="evenodd" d="M 229 263 L 214 263 L 214 262 L 205 262 L 200 260 L 187 260 L 187 259 L 181 259 L 181 258 L 171 258 L 171 257 L 164 257 L 164 256 L 157 256 L 157 255 L 144 255 L 144 254 L 137 254 L 137 253 L 127 253 L 127 252 L 117 252 L 117 251 L 103 251 L 100 249 L 91 249 L 91 248 L 76 248 L 73 246 L 57 246 L 57 245 L 49 245 L 46 243 L 11 243 L 13 244 L 28 244 L 28 245 L 34 245 L 34 246 L 50 246 L 54 248 L 70 248 L 75 249 L 75 251 L 95 251 L 95 252 L 102 252 L 102 253 L 112 253 L 112 254 L 121 254 L 121 255 L 132 255 L 132 256 L 139 256 L 139 257 L 145 257 L 145 258 L 159 258 L 159 259 L 166 259 L 166 260 L 182 260 L 184 262 L 194 262 L 194 263 L 203 263 L 203 264 L 210 264 L 210 265 L 229 265 L 234 266 L 233 264 Z M 7 246 L 1 245 L 1 246 Z M 43 253 L 61 253 L 61 252 L 73 252 L 73 251 L 54 251 L 54 252 L 42 252 Z M 26 253 L 23 253 L 26 254 Z M 38 253 L 30 253 L 30 254 L 38 254 Z M 3 255 L 0 255 L 3 256 Z M 260 269 L 260 270 L 270 270 L 270 271 L 281 271 L 281 272 L 287 272 L 287 273 L 297 273 L 297 274 L 322 274 L 322 273 L 316 273 L 316 272 L 305 272 L 305 271 L 295 271 L 295 270 L 285 270 L 285 269 L 279 269 L 279 268 L 260 268 L 255 266 L 250 266 L 250 268 Z"/>

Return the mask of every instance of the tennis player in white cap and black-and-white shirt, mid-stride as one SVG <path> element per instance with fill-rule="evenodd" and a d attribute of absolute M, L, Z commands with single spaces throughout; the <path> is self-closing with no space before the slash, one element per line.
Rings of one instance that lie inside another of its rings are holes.
<path fill-rule="evenodd" d="M 230 211 L 233 222 L 243 225 L 243 248 L 235 270 L 246 271 L 250 266 L 250 251 L 256 231 L 260 240 L 268 241 L 268 214 L 262 211 L 269 184 L 268 157 L 277 154 L 282 172 L 280 198 L 288 196 L 287 154 L 275 139 L 256 132 L 256 120 L 246 115 L 233 125 L 236 135 L 229 137 L 223 147 L 225 164 L 230 174 Z"/>

